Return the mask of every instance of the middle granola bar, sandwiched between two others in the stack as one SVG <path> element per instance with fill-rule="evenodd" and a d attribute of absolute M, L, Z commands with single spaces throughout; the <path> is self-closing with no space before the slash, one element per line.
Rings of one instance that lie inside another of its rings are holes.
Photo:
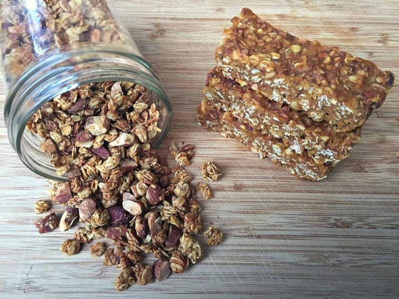
<path fill-rule="evenodd" d="M 207 86 L 203 90 L 208 103 L 215 111 L 229 112 L 245 126 L 272 134 L 299 154 L 307 152 L 319 163 L 338 162 L 347 157 L 349 151 L 359 141 L 361 129 L 350 132 L 337 132 L 335 126 L 327 122 L 315 122 L 305 112 L 290 109 L 265 98 L 250 88 L 240 87 L 219 72 L 211 71 Z"/>

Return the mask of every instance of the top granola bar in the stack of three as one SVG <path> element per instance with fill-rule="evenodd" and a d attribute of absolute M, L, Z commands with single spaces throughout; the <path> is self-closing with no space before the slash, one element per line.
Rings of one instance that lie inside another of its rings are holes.
<path fill-rule="evenodd" d="M 216 66 L 229 79 L 279 105 L 306 111 L 337 131 L 352 131 L 381 106 L 394 75 L 336 46 L 295 37 L 243 8 L 215 50 Z"/>

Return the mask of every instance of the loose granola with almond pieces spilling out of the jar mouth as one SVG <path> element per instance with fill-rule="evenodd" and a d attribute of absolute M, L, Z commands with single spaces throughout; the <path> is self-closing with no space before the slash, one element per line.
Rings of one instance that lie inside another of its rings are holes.
<path fill-rule="evenodd" d="M 100 82 L 55 97 L 27 124 L 43 138 L 41 149 L 51 155 L 57 173 L 70 179 L 50 181 L 52 202 L 65 206 L 61 218 L 51 213 L 35 225 L 43 233 L 58 223 L 65 231 L 81 222 L 73 238 L 61 245 L 67 255 L 93 240 L 112 240 L 113 248 L 98 242 L 90 251 L 104 256 L 104 266 L 121 271 L 115 281 L 118 291 L 183 273 L 202 256 L 194 237 L 202 229 L 201 208 L 193 175 L 184 168 L 194 147 L 172 144 L 178 166 L 170 169 L 166 157 L 150 145 L 161 132 L 158 120 L 144 87 Z M 212 162 L 208 174 L 220 176 Z M 156 257 L 152 267 L 142 264 L 145 254 Z"/>

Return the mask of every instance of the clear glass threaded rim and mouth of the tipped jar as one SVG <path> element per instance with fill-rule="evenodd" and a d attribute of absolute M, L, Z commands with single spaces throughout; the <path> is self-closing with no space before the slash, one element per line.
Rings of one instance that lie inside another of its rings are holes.
<path fill-rule="evenodd" d="M 162 144 L 171 125 L 172 103 L 150 63 L 108 44 L 79 46 L 48 53 L 13 82 L 6 98 L 4 120 L 12 148 L 29 169 L 49 179 L 68 180 L 56 173 L 51 156 L 39 149 L 41 138 L 26 130 L 26 124 L 43 104 L 80 85 L 129 81 L 146 87 L 160 112 L 162 129 L 151 141 L 153 148 Z"/>

